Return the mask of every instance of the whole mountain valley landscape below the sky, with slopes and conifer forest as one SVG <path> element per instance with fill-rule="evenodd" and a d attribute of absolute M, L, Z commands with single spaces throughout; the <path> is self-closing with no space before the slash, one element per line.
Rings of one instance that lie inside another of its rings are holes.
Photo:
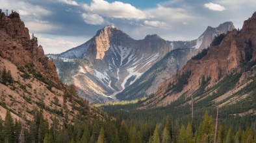
<path fill-rule="evenodd" d="M 45 55 L 0 11 L 0 143 L 256 142 L 256 12 L 192 41 L 106 26 Z"/>

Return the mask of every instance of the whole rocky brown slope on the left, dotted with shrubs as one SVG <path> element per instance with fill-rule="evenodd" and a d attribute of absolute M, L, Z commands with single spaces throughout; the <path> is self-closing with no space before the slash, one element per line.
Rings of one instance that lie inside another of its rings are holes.
<path fill-rule="evenodd" d="M 84 120 L 103 116 L 96 107 L 77 96 L 74 85 L 58 79 L 53 61 L 44 55 L 37 38 L 29 35 L 17 12 L 0 13 L 0 117 L 7 111 L 23 125 L 42 111 L 47 122 L 56 117 L 60 124 L 73 122 L 77 114 Z"/>

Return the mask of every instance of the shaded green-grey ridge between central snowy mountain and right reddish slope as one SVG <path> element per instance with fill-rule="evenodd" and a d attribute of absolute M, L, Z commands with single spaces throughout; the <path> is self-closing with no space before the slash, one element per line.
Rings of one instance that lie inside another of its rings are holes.
<path fill-rule="evenodd" d="M 179 47 L 177 46 L 177 49 L 172 50 L 160 61 L 157 61 L 136 82 L 125 88 L 121 93 L 116 94 L 116 98 L 119 100 L 132 100 L 156 93 L 160 83 L 178 72 L 194 54 L 209 47 L 212 39 L 218 34 L 226 33 L 234 28 L 232 22 L 225 22 L 216 28 L 207 27 L 205 32 L 194 40 L 196 41 L 196 46 L 194 47 L 182 48 L 181 45 L 183 43 L 180 42 L 181 44 Z"/>

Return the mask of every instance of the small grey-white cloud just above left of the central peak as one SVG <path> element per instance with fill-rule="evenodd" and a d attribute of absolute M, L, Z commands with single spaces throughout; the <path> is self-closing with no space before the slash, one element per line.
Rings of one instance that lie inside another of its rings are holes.
<path fill-rule="evenodd" d="M 105 20 L 98 14 L 82 14 L 84 22 L 89 25 L 103 25 Z"/>

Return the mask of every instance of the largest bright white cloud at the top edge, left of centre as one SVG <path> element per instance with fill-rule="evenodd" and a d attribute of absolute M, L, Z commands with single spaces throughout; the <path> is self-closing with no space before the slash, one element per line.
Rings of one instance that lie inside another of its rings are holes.
<path fill-rule="evenodd" d="M 99 14 L 100 16 L 121 18 L 121 19 L 145 19 L 146 14 L 142 10 L 138 10 L 134 6 L 114 1 L 108 3 L 104 0 L 93 0 L 90 5 L 84 4 L 84 10 L 92 14 Z"/>

